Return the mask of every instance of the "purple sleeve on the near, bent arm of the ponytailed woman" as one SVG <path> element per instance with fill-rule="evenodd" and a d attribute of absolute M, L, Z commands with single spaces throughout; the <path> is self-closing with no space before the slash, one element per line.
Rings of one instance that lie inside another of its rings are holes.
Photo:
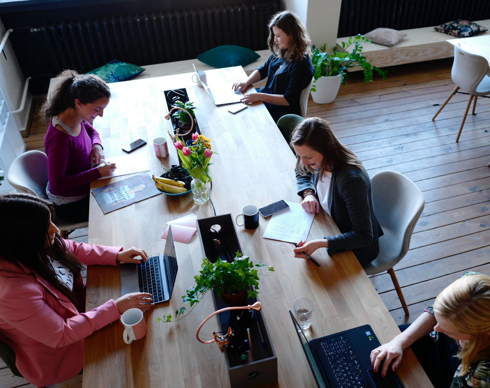
<path fill-rule="evenodd" d="M 65 137 L 54 136 L 49 139 L 46 144 L 46 151 L 48 153 L 49 187 L 53 194 L 61 193 L 66 189 L 73 189 L 100 178 L 97 167 L 78 174 L 66 174 L 70 147 Z"/>

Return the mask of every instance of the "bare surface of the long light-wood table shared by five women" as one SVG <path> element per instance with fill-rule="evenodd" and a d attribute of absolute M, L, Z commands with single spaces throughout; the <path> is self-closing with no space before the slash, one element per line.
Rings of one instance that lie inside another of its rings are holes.
<path fill-rule="evenodd" d="M 245 79 L 241 67 L 210 71 L 231 83 Z M 203 134 L 211 139 L 212 199 L 217 214 L 238 214 L 242 207 L 259 207 L 284 199 L 299 202 L 294 178 L 294 155 L 272 121 L 266 107 L 254 103 L 237 115 L 226 106 L 216 107 L 202 88 L 191 80 L 192 73 L 133 80 L 110 84 L 113 97 L 104 117 L 95 121 L 104 151 L 108 156 L 121 155 L 121 146 L 143 138 L 148 145 L 135 152 L 147 152 L 151 173 L 162 172 L 161 163 L 176 163 L 171 156 L 156 158 L 152 141 L 166 136 L 170 121 L 163 91 L 187 88 L 195 101 L 196 118 Z M 208 74 L 208 79 L 211 74 Z M 124 179 L 127 176 L 113 178 Z M 92 188 L 108 184 L 108 180 L 92 183 Z M 162 254 L 161 240 L 166 222 L 195 213 L 199 218 L 213 216 L 211 203 L 196 205 L 192 195 L 170 197 L 158 195 L 145 201 L 103 215 L 91 196 L 89 242 L 104 245 L 132 245 L 148 254 Z M 314 303 L 313 323 L 308 331 L 318 338 L 352 327 L 370 324 L 381 343 L 399 333 L 392 316 L 372 286 L 352 252 L 329 257 L 324 249 L 315 252 L 321 267 L 311 261 L 296 259 L 293 244 L 262 238 L 268 220 L 260 218 L 254 231 L 238 228 L 244 253 L 255 263 L 277 267 L 272 276 L 260 281 L 259 300 L 269 327 L 278 358 L 278 382 L 267 387 L 315 387 L 288 309 L 299 297 Z M 336 235 L 339 230 L 331 218 L 315 216 L 309 239 Z M 116 321 L 85 340 L 83 387 L 144 388 L 229 387 L 225 357 L 215 344 L 205 345 L 196 338 L 199 323 L 214 311 L 212 296 L 206 294 L 192 314 L 175 323 L 157 322 L 158 317 L 174 314 L 182 306 L 180 296 L 195 285 L 194 275 L 200 270 L 203 253 L 198 236 L 190 244 L 175 243 L 179 265 L 170 302 L 160 303 L 145 313 L 148 334 L 145 338 L 123 342 L 123 325 Z M 87 273 L 87 310 L 120 296 L 118 267 L 90 266 Z M 187 305 L 188 306 L 188 305 Z M 201 330 L 202 339 L 210 339 L 218 329 L 217 318 L 210 319 Z M 406 388 L 432 387 L 410 349 L 397 372 Z"/>

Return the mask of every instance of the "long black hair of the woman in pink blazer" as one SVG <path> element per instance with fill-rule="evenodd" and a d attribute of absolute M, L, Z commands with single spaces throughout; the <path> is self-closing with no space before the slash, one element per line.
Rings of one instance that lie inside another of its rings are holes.
<path fill-rule="evenodd" d="M 71 270 L 73 278 L 79 275 L 82 264 L 66 250 L 65 243 L 58 235 L 50 247 L 45 246 L 49 240 L 49 214 L 53 219 L 53 205 L 44 198 L 24 193 L 0 195 L 0 260 L 17 266 L 21 263 L 76 305 L 73 291 L 58 280 L 50 258 Z"/>

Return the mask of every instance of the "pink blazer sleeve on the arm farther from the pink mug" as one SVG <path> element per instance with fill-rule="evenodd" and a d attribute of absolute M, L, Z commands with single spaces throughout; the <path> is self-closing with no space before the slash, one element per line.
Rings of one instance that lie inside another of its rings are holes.
<path fill-rule="evenodd" d="M 86 266 L 117 266 L 116 256 L 123 250 L 122 246 L 105 246 L 96 244 L 86 244 L 85 242 L 75 242 L 64 240 L 66 249 L 73 253 L 80 262 Z"/>

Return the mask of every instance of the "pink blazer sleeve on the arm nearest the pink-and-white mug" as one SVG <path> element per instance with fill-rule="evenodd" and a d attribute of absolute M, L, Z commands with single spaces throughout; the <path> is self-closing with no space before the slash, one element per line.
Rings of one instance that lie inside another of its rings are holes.
<path fill-rule="evenodd" d="M 53 348 L 70 345 L 120 318 L 109 300 L 87 313 L 66 320 L 45 302 L 45 290 L 33 284 L 10 288 L 0 297 L 0 315 L 25 335 Z"/>

